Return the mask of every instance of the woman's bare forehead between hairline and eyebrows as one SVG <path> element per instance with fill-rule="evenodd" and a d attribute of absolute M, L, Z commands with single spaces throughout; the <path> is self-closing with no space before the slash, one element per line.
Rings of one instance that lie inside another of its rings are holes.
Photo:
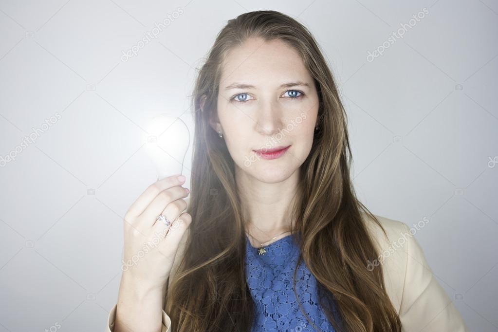
<path fill-rule="evenodd" d="M 303 60 L 292 47 L 281 40 L 256 38 L 228 52 L 221 74 L 222 89 L 233 82 L 263 87 L 295 80 L 312 81 Z"/>

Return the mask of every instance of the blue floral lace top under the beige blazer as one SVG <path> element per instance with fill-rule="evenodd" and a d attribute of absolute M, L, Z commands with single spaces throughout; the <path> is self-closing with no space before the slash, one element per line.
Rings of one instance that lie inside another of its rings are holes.
<path fill-rule="evenodd" d="M 249 290 L 256 304 L 251 332 L 269 331 L 327 331 L 334 332 L 318 301 L 317 281 L 301 261 L 296 274 L 296 293 L 310 320 L 321 330 L 315 330 L 301 312 L 292 289 L 294 268 L 299 247 L 293 234 L 265 246 L 259 255 L 246 234 L 246 276 Z M 340 318 L 331 305 L 337 320 Z"/>

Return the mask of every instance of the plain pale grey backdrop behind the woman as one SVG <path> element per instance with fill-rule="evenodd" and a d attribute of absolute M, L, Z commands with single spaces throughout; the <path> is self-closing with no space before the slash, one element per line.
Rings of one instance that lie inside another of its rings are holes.
<path fill-rule="evenodd" d="M 298 18 L 323 48 L 362 201 L 408 225 L 427 218 L 415 237 L 434 275 L 472 331 L 498 331 L 497 1 L 1 0 L 0 156 L 15 160 L 0 168 L 0 332 L 105 329 L 122 218 L 156 179 L 146 119 L 167 111 L 191 127 L 195 68 L 228 19 L 258 9 Z"/>

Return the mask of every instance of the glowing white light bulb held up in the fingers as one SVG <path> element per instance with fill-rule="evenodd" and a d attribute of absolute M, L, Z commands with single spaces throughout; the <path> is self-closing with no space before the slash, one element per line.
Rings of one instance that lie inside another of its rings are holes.
<path fill-rule="evenodd" d="M 157 180 L 182 174 L 183 161 L 190 144 L 190 132 L 179 117 L 159 114 L 152 118 L 142 136 L 145 151 L 157 171 Z"/>

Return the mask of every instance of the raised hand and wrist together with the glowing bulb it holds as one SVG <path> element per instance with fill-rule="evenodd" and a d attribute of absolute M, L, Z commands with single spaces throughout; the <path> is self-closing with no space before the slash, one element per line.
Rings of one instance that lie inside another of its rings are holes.
<path fill-rule="evenodd" d="M 176 252 L 192 221 L 184 212 L 190 192 L 182 187 L 185 177 L 179 176 L 189 146 L 188 129 L 180 119 L 161 114 L 147 131 L 145 148 L 156 166 L 158 180 L 124 216 L 123 276 L 118 303 L 125 305 L 118 306 L 116 312 L 117 331 L 124 331 L 124 326 L 119 327 L 121 322 L 134 331 L 161 329 L 163 308 L 157 306 L 164 299 L 164 286 Z M 158 219 L 159 216 L 164 219 Z"/>

